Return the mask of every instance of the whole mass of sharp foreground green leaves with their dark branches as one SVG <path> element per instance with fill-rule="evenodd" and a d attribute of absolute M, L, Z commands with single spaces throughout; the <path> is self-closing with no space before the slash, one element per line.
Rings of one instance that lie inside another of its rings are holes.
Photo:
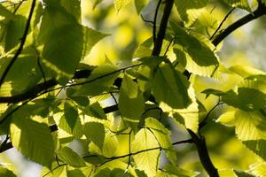
<path fill-rule="evenodd" d="M 104 3 L 93 0 L 95 10 Z M 42 176 L 196 176 L 176 155 L 176 147 L 191 143 L 209 176 L 266 176 L 266 74 L 228 68 L 217 55 L 226 36 L 266 14 L 266 1 L 134 3 L 153 35 L 130 64 L 106 57 L 102 65 L 88 65 L 83 61 L 92 47 L 110 34 L 84 25 L 80 0 L 1 2 L 0 153 L 16 148 L 43 165 Z M 132 5 L 113 4 L 117 13 Z M 231 6 L 222 22 L 213 4 Z M 248 14 L 222 30 L 235 9 Z M 223 87 L 201 90 L 199 78 Z M 209 97 L 217 100 L 210 109 Z M 246 171 L 217 169 L 209 156 L 202 129 L 222 104 L 216 123 L 234 127 L 258 159 Z M 173 142 L 170 135 L 181 126 L 190 138 Z M 82 150 L 71 148 L 74 141 Z M 15 176 L 4 164 L 0 175 Z"/>

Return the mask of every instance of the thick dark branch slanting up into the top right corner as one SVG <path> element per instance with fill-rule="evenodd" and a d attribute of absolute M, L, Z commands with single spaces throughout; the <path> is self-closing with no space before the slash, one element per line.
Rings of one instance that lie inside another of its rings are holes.
<path fill-rule="evenodd" d="M 225 37 L 227 37 L 227 35 L 230 35 L 233 31 L 235 31 L 239 27 L 242 27 L 243 25 L 252 21 L 253 19 L 262 17 L 265 14 L 266 14 L 266 6 L 264 4 L 259 4 L 258 8 L 253 13 L 249 13 L 245 17 L 231 24 L 229 27 L 225 28 L 222 33 L 220 33 L 215 37 L 214 41 L 212 41 L 213 44 L 217 46 L 220 42 L 223 41 Z"/>

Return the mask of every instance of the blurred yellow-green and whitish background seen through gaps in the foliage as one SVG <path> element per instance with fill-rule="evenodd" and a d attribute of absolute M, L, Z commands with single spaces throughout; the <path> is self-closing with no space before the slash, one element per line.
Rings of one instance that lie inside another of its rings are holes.
<path fill-rule="evenodd" d="M 250 1 L 254 9 L 256 1 Z M 113 7 L 113 0 L 104 0 L 93 9 L 91 0 L 81 0 L 82 4 L 82 23 L 88 27 L 97 29 L 101 32 L 110 34 L 91 50 L 90 55 L 85 58 L 84 63 L 89 65 L 100 65 L 106 58 L 109 58 L 114 64 L 127 64 L 131 62 L 134 51 L 137 46 L 152 36 L 152 25 L 145 20 L 153 20 L 153 12 L 156 0 L 150 1 L 150 4 L 142 12 L 143 18 L 137 15 L 133 1 L 130 1 L 126 8 L 116 12 Z M 222 0 L 213 0 L 207 7 L 207 11 L 215 13 L 215 18 L 221 22 L 224 16 L 231 10 L 231 7 L 224 4 Z M 248 12 L 236 9 L 223 24 L 227 27 L 236 19 L 241 18 Z M 171 20 L 180 19 L 174 10 Z M 266 17 L 256 19 L 244 27 L 239 28 L 233 34 L 229 35 L 223 42 L 223 48 L 218 52 L 219 57 L 226 67 L 231 65 L 249 65 L 266 72 L 265 62 L 265 42 L 266 42 Z M 214 31 L 211 31 L 212 34 Z M 233 80 L 237 78 L 233 78 Z M 214 80 L 195 78 L 195 87 L 199 90 L 207 89 L 209 84 L 218 87 Z M 215 97 L 210 96 L 207 100 L 205 96 L 198 93 L 199 99 L 210 110 L 217 102 Z M 258 158 L 252 152 L 246 149 L 234 137 L 233 127 L 224 127 L 215 123 L 223 110 L 230 109 L 224 105 L 215 109 L 211 113 L 207 126 L 204 127 L 202 134 L 206 136 L 207 147 L 210 156 L 219 169 L 234 168 L 239 170 L 248 169 L 248 165 L 255 163 Z M 188 139 L 183 127 L 173 126 L 173 142 Z M 4 139 L 4 137 L 3 137 Z M 77 142 L 74 142 L 73 147 Z M 195 170 L 201 173 L 199 176 L 207 176 L 200 165 L 197 151 L 193 145 L 176 146 L 178 164 L 187 170 Z M 39 176 L 42 166 L 27 161 L 20 153 L 15 150 L 7 150 L 0 155 L 0 163 L 13 165 L 15 172 L 21 177 Z"/>

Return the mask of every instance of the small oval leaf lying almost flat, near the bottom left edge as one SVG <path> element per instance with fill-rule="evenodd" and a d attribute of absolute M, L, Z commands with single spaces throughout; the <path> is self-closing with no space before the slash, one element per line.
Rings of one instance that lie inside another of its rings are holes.
<path fill-rule="evenodd" d="M 59 150 L 59 159 L 74 167 L 86 166 L 84 160 L 76 152 L 74 152 L 74 150 L 71 150 L 68 147 L 64 147 Z"/>

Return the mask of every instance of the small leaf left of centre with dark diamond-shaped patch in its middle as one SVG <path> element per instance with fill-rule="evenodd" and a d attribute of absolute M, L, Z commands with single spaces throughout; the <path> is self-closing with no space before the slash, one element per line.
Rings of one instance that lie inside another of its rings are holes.
<path fill-rule="evenodd" d="M 64 104 L 64 115 L 59 120 L 59 127 L 76 138 L 82 137 L 82 122 L 77 109 L 73 105 Z"/>

